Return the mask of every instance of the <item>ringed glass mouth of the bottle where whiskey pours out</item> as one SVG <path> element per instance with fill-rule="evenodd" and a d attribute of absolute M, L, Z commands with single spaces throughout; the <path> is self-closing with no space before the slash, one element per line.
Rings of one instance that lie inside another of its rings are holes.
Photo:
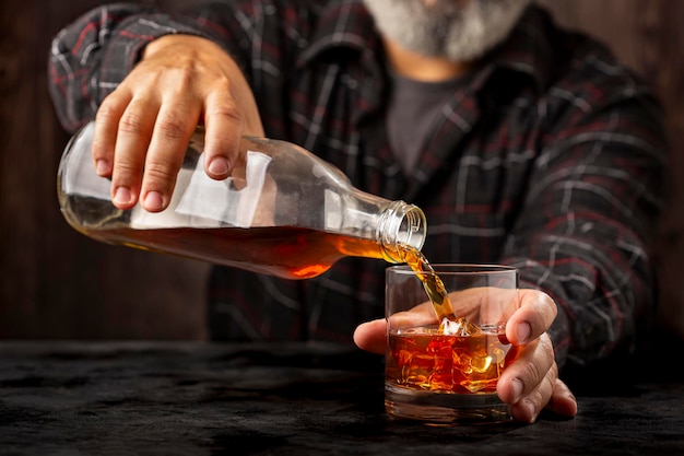
<path fill-rule="evenodd" d="M 377 239 L 388 262 L 405 262 L 406 250 L 421 250 L 425 243 L 427 221 L 414 204 L 392 201 L 380 215 Z"/>

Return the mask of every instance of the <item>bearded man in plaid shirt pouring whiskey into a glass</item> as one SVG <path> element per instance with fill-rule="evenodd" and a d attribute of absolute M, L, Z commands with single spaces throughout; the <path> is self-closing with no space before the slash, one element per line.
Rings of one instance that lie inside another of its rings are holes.
<path fill-rule="evenodd" d="M 121 209 L 166 207 L 199 122 L 213 178 L 229 175 L 241 135 L 285 139 L 421 207 L 431 261 L 519 268 L 506 334 L 521 355 L 497 387 L 517 420 L 575 416 L 558 370 L 632 352 L 653 313 L 658 103 L 528 0 L 103 7 L 57 36 L 50 61 L 64 127 L 96 116 L 93 160 Z M 216 268 L 212 337 L 354 331 L 384 352 L 385 267 L 349 258 L 298 282 Z"/>

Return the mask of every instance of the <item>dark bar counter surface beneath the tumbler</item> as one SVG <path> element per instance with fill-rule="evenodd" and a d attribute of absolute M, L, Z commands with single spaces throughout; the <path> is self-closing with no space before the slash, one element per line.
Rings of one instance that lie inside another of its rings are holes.
<path fill-rule="evenodd" d="M 355 349 L 7 341 L 0 455 L 684 455 L 684 377 L 590 383 L 570 420 L 428 426 L 388 419 Z"/>

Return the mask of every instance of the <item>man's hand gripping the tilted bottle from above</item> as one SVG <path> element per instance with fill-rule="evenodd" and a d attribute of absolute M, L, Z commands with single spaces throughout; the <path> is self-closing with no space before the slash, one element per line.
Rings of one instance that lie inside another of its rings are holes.
<path fill-rule="evenodd" d="M 152 42 L 95 119 L 93 160 L 111 177 L 114 204 L 130 209 L 140 199 L 151 212 L 164 210 L 199 124 L 215 179 L 229 176 L 241 136 L 263 136 L 251 89 L 221 47 L 189 35 Z"/>

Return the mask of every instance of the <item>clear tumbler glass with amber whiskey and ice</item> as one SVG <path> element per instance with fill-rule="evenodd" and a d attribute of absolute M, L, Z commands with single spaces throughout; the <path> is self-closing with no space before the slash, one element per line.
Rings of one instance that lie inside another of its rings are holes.
<path fill-rule="evenodd" d="M 390 418 L 434 424 L 510 420 L 496 394 L 514 361 L 506 323 L 518 306 L 518 271 L 498 265 L 392 266 L 386 273 L 385 407 Z M 425 292 L 441 281 L 453 309 L 439 321 Z"/>

